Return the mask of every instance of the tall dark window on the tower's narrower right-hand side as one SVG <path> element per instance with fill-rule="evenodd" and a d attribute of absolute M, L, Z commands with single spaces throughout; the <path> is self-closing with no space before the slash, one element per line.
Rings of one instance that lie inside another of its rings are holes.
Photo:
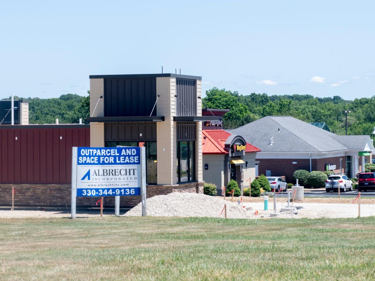
<path fill-rule="evenodd" d="M 177 182 L 195 180 L 195 142 L 177 142 Z"/>

